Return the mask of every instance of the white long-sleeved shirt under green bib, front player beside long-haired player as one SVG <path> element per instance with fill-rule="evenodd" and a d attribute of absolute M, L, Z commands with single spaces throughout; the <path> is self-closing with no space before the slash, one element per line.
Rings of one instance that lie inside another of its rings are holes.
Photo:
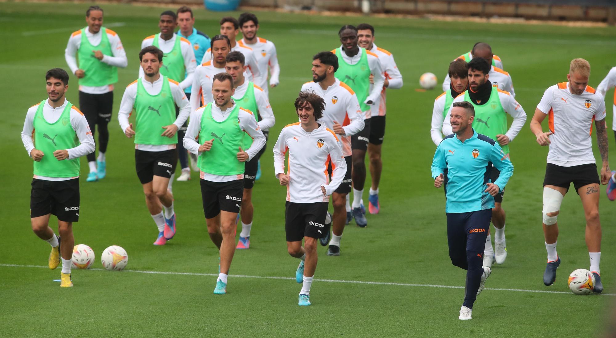
<path fill-rule="evenodd" d="M 231 99 L 233 100 L 233 99 Z M 221 108 L 216 104 L 212 103 L 212 117 L 217 122 L 223 122 L 227 119 L 227 112 L 233 111 L 235 108 L 235 101 L 233 106 L 230 106 L 225 111 L 221 111 Z M 187 151 L 192 152 L 195 155 L 201 155 L 199 152 L 199 147 L 201 144 L 199 141 L 199 133 L 201 132 L 201 117 L 203 116 L 203 111 L 205 110 L 205 106 L 197 109 L 197 111 L 190 114 L 190 122 L 188 122 L 188 128 L 186 129 L 186 135 L 184 136 L 184 147 Z M 240 112 L 238 112 L 237 119 L 240 122 L 240 128 L 246 132 L 251 138 L 253 138 L 253 144 L 248 149 L 243 149 L 246 154 L 248 154 L 248 160 L 251 160 L 254 156 L 259 153 L 262 147 L 265 146 L 265 135 L 261 132 L 261 127 L 257 124 L 257 120 L 254 119 L 253 112 L 240 108 Z M 209 139 L 211 140 L 211 139 Z M 238 149 L 240 151 L 240 149 Z M 237 179 L 243 179 L 244 174 L 238 175 L 213 175 L 210 173 L 205 173 L 201 171 L 200 178 L 205 179 L 210 182 L 229 182 L 235 181 Z"/>

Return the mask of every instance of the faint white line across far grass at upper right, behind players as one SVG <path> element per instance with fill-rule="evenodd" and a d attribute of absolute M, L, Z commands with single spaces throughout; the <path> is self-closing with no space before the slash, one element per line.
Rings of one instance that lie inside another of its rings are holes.
<path fill-rule="evenodd" d="M 318 35 L 330 35 L 336 36 L 335 31 L 330 31 L 326 29 L 290 29 L 291 33 L 299 33 L 299 34 L 318 34 Z M 448 35 L 448 34 L 416 34 L 416 33 L 379 33 L 379 36 L 386 37 L 407 37 L 407 38 L 416 38 L 416 39 L 440 39 L 440 40 L 471 40 L 475 41 L 477 39 L 476 36 L 464 36 L 464 35 Z M 532 38 L 532 37 L 499 37 L 499 36 L 490 36 L 485 38 L 484 40 L 488 41 L 506 41 L 506 42 L 530 42 L 537 44 L 560 44 L 560 45 L 570 45 L 572 42 L 580 42 L 583 41 L 584 44 L 591 45 L 616 45 L 616 41 L 612 40 L 582 40 L 582 39 L 543 39 L 540 37 Z M 410 41 L 410 40 L 408 40 Z"/>

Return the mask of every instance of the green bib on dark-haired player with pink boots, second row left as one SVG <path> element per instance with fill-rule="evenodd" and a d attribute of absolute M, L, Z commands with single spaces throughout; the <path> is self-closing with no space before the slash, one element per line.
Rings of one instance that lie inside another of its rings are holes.
<path fill-rule="evenodd" d="M 176 104 L 169 87 L 169 79 L 163 78 L 163 88 L 160 93 L 150 95 L 137 80 L 137 96 L 133 107 L 135 117 L 135 143 L 136 144 L 176 144 L 177 133 L 172 138 L 161 136 L 163 127 L 176 121 Z"/>

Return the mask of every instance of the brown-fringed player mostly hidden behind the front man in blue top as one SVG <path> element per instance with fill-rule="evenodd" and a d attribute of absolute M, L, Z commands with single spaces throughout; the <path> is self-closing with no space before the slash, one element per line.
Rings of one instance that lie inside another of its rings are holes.
<path fill-rule="evenodd" d="M 432 109 L 432 124 L 430 136 L 432 142 L 439 146 L 443 140 L 443 122 L 449 117 L 449 109 L 452 106 L 453 99 L 468 88 L 468 65 L 464 60 L 454 60 L 449 64 L 447 72 L 452 81 L 449 84 L 449 89 L 437 96 L 434 100 L 434 108 Z"/>

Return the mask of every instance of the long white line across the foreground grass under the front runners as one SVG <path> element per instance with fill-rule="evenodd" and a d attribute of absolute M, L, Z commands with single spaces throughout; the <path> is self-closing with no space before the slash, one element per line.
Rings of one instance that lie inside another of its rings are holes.
<path fill-rule="evenodd" d="M 21 265 L 21 264 L 0 264 L 0 267 L 31 267 L 38 269 L 49 269 L 45 265 Z M 105 269 L 88 269 L 94 271 L 106 271 Z M 124 270 L 124 272 L 132 273 L 147 273 L 150 275 L 185 275 L 185 276 L 204 276 L 217 277 L 218 273 L 197 273 L 197 272 L 164 272 L 164 271 L 142 271 L 142 270 Z M 277 277 L 277 276 L 251 276 L 251 275 L 231 275 L 233 278 L 253 278 L 253 279 L 270 279 L 270 280 L 295 280 L 292 277 Z M 363 285 L 391 285 L 391 286 L 418 286 L 421 288 L 440 288 L 440 289 L 464 289 L 464 286 L 452 285 L 431 285 L 431 284 L 412 284 L 412 283 L 394 283 L 387 281 L 360 281 L 360 280 L 330 280 L 330 279 L 315 279 L 315 281 L 324 281 L 326 283 L 346 283 L 346 284 L 363 284 Z M 547 290 L 526 290 L 526 289 L 506 289 L 506 288 L 485 288 L 492 291 L 515 291 L 524 293 L 557 293 L 557 294 L 572 294 L 565 291 L 547 291 Z M 616 296 L 614 293 L 604 293 L 603 296 Z"/>

